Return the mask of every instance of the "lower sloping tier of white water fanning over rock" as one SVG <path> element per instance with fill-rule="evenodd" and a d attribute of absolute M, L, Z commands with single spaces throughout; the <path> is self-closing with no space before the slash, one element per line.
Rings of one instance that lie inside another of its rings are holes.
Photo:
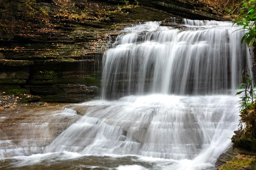
<path fill-rule="evenodd" d="M 237 98 L 230 96 L 127 96 L 95 101 L 45 152 L 139 155 L 214 162 L 237 127 Z M 69 139 L 69 140 L 67 140 Z M 70 140 L 72 139 L 72 140 Z M 204 153 L 203 153 L 204 151 Z"/>

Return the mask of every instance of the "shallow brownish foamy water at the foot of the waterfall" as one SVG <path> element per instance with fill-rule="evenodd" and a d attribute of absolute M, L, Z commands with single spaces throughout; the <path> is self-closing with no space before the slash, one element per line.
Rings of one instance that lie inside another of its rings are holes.
<path fill-rule="evenodd" d="M 190 160 L 154 159 L 140 156 L 78 156 L 77 153 L 47 153 L 17 156 L 0 160 L 3 170 L 170 170 L 186 165 L 183 170 L 211 170 L 211 164 L 192 165 Z M 77 158 L 74 158 L 77 157 Z M 189 167 L 192 165 L 191 167 Z"/>

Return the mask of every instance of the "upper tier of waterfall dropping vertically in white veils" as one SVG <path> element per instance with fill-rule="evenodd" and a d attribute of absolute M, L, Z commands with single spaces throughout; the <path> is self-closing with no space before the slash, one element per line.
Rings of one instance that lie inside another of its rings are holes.
<path fill-rule="evenodd" d="M 103 99 L 143 94 L 228 94 L 250 64 L 243 31 L 230 22 L 184 20 L 126 28 L 104 54 Z M 110 95 L 111 94 L 111 95 Z"/>

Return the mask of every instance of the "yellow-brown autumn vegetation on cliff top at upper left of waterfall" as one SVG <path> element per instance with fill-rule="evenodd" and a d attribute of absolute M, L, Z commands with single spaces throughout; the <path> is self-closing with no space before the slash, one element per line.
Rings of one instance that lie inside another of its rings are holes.
<path fill-rule="evenodd" d="M 116 0 L 108 0 L 103 6 L 93 0 L 50 0 L 50 6 L 42 0 L 19 0 L 9 2 L 0 0 L 0 28 L 6 34 L 10 32 L 20 35 L 32 36 L 27 30 L 34 27 L 39 32 L 52 32 L 58 23 L 76 22 L 105 22 L 109 20 L 108 13 L 111 11 L 126 13 L 126 8 L 138 5 L 137 1 L 129 3 L 122 0 L 116 5 L 110 5 Z M 18 3 L 18 5 L 17 5 Z M 35 36 L 35 35 L 34 35 Z"/>

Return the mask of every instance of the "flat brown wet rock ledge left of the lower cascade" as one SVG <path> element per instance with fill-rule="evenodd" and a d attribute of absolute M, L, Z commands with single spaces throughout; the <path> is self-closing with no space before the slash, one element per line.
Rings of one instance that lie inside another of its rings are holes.
<path fill-rule="evenodd" d="M 60 105 L 32 105 L 0 110 L 0 149 L 3 156 L 22 151 L 31 155 L 42 153 L 45 146 L 79 119 L 79 115 L 64 113 Z"/>

